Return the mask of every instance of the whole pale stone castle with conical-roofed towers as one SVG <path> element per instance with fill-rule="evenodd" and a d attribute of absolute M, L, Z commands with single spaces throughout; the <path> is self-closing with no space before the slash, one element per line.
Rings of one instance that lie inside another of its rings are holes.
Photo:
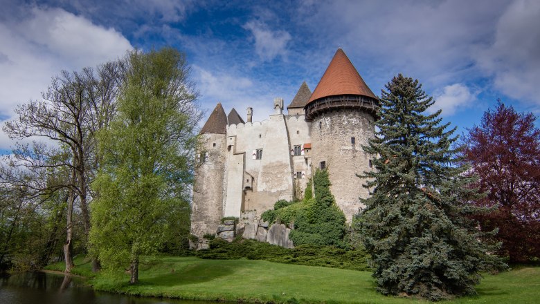
<path fill-rule="evenodd" d="M 341 48 L 313 93 L 305 82 L 300 86 L 287 114 L 280 98 L 273 101 L 273 115 L 262 122 L 252 122 L 253 108 L 247 108 L 244 122 L 234 108 L 226 115 L 218 103 L 201 129 L 204 144 L 191 217 L 191 233 L 199 243 L 192 246 L 204 247 L 203 236 L 216 234 L 224 217 L 240 218 L 242 227 L 227 237 L 242 234 L 272 243 L 267 239 L 271 231 L 259 231 L 268 229 L 260 222 L 261 213 L 278 200 L 303 198 L 316 168 L 329 172 L 336 204 L 350 222 L 361 207 L 359 198 L 368 196 L 357 174 L 372 167 L 361 146 L 375 134 L 378 106 Z"/>

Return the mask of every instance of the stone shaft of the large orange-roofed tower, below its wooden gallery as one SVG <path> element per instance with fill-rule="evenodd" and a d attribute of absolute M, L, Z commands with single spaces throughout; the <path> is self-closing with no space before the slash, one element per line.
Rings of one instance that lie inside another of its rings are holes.
<path fill-rule="evenodd" d="M 363 111 L 340 109 L 318 115 L 312 122 L 312 169 L 325 162 L 330 175 L 330 191 L 348 222 L 363 207 L 359 198 L 367 198 L 368 189 L 357 174 L 369 170 L 369 155 L 362 145 L 374 136 L 374 118 Z M 352 143 L 354 137 L 354 144 Z"/>

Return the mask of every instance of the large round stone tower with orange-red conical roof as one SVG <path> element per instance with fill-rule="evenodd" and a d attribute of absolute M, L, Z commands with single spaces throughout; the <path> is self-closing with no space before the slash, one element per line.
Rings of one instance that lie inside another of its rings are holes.
<path fill-rule="evenodd" d="M 312 122 L 312 171 L 326 169 L 330 190 L 348 222 L 362 207 L 368 189 L 357 175 L 371 168 L 362 145 L 375 136 L 379 102 L 339 48 L 305 106 Z"/>

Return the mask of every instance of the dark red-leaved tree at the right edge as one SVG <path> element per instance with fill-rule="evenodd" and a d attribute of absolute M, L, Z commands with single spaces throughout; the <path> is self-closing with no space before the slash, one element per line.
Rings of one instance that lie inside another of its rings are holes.
<path fill-rule="evenodd" d="M 532 113 L 517 113 L 500 101 L 468 129 L 464 156 L 487 196 L 476 204 L 494 207 L 480 216 L 482 229 L 498 227 L 498 254 L 510 262 L 540 257 L 540 129 Z"/>

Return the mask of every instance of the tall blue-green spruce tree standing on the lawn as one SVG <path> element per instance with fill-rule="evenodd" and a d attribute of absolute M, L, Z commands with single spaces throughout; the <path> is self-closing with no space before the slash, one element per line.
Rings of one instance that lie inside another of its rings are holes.
<path fill-rule="evenodd" d="M 478 192 L 451 147 L 456 129 L 441 124 L 441 111 L 425 113 L 434 100 L 417 80 L 400 74 L 385 88 L 379 131 L 363 147 L 375 170 L 363 176 L 372 193 L 356 227 L 378 290 L 431 301 L 475 294 L 479 272 L 498 259 L 469 220 L 481 210 L 467 204 Z"/>

